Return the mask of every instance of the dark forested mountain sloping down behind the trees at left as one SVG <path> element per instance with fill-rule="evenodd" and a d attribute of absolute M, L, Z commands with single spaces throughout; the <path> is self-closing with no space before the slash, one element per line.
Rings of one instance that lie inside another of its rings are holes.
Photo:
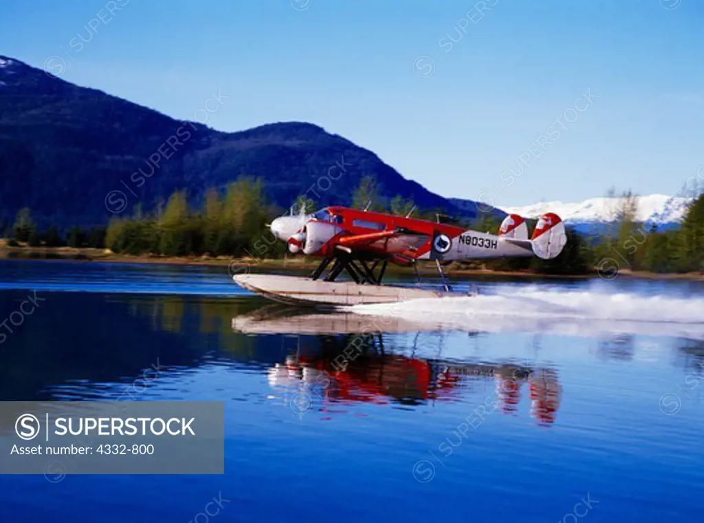
<path fill-rule="evenodd" d="M 360 179 L 372 175 L 384 199 L 475 214 L 317 125 L 222 133 L 0 56 L 0 221 L 27 206 L 40 226 L 101 224 L 111 211 L 132 214 L 137 204 L 148 211 L 178 189 L 198 204 L 206 188 L 242 174 L 262 177 L 270 202 L 283 209 L 306 192 L 318 204 L 351 204 Z"/>

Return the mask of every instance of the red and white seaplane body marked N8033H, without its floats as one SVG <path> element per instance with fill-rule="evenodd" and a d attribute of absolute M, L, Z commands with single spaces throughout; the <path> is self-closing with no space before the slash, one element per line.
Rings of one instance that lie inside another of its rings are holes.
<path fill-rule="evenodd" d="M 347 207 L 325 207 L 313 214 L 281 216 L 271 223 L 276 238 L 291 254 L 331 259 L 347 253 L 408 265 L 416 259 L 452 261 L 501 257 L 551 259 L 566 242 L 559 216 L 544 214 L 532 238 L 521 216 L 506 216 L 498 234 L 467 230 L 435 221 Z"/>

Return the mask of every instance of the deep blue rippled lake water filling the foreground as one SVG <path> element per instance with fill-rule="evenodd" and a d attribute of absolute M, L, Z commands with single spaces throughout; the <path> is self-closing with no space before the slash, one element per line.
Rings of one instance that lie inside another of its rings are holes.
<path fill-rule="evenodd" d="M 38 304 L 0 400 L 225 402 L 224 475 L 1 476 L 0 521 L 700 519 L 704 285 L 478 285 L 301 315 L 225 269 L 0 262 L 0 319 Z"/>

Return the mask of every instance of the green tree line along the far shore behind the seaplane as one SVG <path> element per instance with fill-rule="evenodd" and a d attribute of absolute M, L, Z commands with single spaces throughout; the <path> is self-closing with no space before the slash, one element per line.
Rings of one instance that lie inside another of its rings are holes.
<path fill-rule="evenodd" d="M 634 271 L 681 273 L 704 271 L 704 195 L 693 200 L 678 228 L 658 230 L 636 221 L 637 199 L 624 193 L 612 210 L 609 223 L 597 233 L 585 235 L 567 227 L 567 245 L 552 260 L 534 258 L 496 259 L 482 262 L 496 270 L 532 270 L 538 273 L 586 274 L 612 271 L 614 266 Z M 352 207 L 391 212 L 429 220 L 441 219 L 442 209 L 416 209 L 410 199 L 379 196 L 376 180 L 365 176 L 353 195 Z M 298 197 L 292 209 L 315 211 L 315 202 Z M 170 257 L 212 256 L 282 257 L 286 245 L 268 231 L 268 222 L 284 209 L 269 204 L 263 180 L 243 176 L 225 190 L 206 191 L 199 207 L 191 207 L 185 191 L 174 192 L 149 212 L 141 207 L 132 216 L 115 216 L 107 227 L 88 230 L 74 227 L 62 235 L 54 226 L 40 232 L 30 209 L 21 209 L 13 224 L 0 223 L 8 245 L 30 247 L 98 247 L 121 254 L 156 254 Z M 444 221 L 452 219 L 444 218 Z M 527 220 L 529 230 L 534 220 Z M 474 220 L 460 219 L 456 225 L 496 233 L 500 220 L 479 213 Z M 606 275 L 608 276 L 608 274 Z"/>

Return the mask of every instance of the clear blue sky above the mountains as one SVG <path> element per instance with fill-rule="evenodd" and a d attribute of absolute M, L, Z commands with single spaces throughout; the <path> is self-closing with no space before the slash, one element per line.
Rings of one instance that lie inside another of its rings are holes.
<path fill-rule="evenodd" d="M 107 4 L 4 0 L 0 54 L 59 56 L 65 80 L 175 118 L 219 89 L 213 128 L 310 121 L 500 207 L 672 194 L 704 165 L 699 0 L 115 0 L 100 21 Z"/>

